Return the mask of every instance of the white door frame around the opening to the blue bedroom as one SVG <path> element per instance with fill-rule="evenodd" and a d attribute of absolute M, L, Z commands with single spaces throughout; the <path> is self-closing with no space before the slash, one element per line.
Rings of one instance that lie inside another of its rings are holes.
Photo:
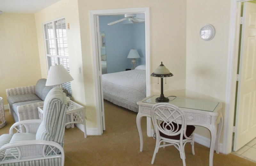
<path fill-rule="evenodd" d="M 92 60 L 93 60 L 93 75 L 94 75 L 94 91 L 95 91 L 95 105 L 96 105 L 96 120 L 97 120 L 97 135 L 102 134 L 102 118 L 101 118 L 101 105 L 103 105 L 98 100 L 100 95 L 100 80 L 99 80 L 99 61 L 97 51 L 97 27 L 96 27 L 96 17 L 103 15 L 117 15 L 125 13 L 142 13 L 145 15 L 145 56 L 146 56 L 146 93 L 147 96 L 150 95 L 150 47 L 149 47 L 149 8 L 128 8 L 128 9 L 111 9 L 111 10 L 94 10 L 90 11 L 90 26 L 91 26 L 91 43 L 92 43 Z"/>

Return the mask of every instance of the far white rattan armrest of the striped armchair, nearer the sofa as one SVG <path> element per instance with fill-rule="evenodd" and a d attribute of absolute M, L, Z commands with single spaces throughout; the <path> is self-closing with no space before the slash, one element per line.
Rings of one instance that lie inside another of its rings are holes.
<path fill-rule="evenodd" d="M 16 122 L 12 124 L 9 130 L 9 134 L 13 135 L 14 133 L 17 133 L 17 132 L 36 133 L 42 121 L 43 121 L 42 119 L 32 119 L 32 120 L 23 120 L 23 121 Z"/>

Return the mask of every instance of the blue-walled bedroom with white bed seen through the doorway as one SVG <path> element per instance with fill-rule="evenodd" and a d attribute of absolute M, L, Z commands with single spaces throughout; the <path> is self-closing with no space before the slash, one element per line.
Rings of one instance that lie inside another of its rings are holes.
<path fill-rule="evenodd" d="M 146 97 L 145 16 L 134 14 L 136 22 L 125 16 L 99 16 L 103 97 L 138 112 L 136 102 Z"/>

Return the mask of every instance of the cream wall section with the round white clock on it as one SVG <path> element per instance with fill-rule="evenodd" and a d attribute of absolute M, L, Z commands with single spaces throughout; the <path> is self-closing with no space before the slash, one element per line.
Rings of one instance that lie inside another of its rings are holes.
<path fill-rule="evenodd" d="M 229 23 L 229 0 L 187 1 L 186 97 L 222 102 L 223 116 Z M 215 36 L 211 41 L 204 41 L 199 36 L 199 30 L 205 24 L 212 24 L 215 28 Z M 196 127 L 196 133 L 210 138 L 210 132 L 203 127 Z"/>

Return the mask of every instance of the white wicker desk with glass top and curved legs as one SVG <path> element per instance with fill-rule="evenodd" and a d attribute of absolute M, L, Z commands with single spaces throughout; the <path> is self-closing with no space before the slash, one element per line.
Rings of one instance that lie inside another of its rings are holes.
<path fill-rule="evenodd" d="M 140 152 L 143 149 L 143 136 L 141 131 L 141 117 L 151 117 L 151 108 L 156 104 L 155 99 L 158 95 L 149 96 L 142 101 L 137 102 L 139 112 L 136 118 L 137 129 L 140 137 Z M 169 103 L 174 104 L 184 111 L 187 117 L 188 125 L 198 125 L 206 127 L 211 132 L 211 146 L 209 155 L 209 165 L 213 163 L 214 147 L 216 153 L 219 153 L 220 131 L 223 125 L 221 114 L 222 103 L 203 100 L 194 100 L 186 98 L 169 97 Z M 218 128 L 217 128 L 217 124 Z"/>

